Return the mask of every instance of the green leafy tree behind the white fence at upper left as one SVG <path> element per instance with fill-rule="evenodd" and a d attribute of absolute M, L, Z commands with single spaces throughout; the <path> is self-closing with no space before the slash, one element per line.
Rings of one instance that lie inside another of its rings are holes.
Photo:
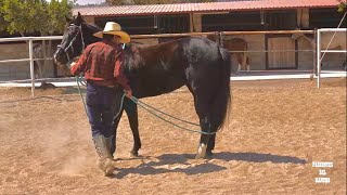
<path fill-rule="evenodd" d="M 65 15 L 72 15 L 69 0 L 0 0 L 0 30 L 22 36 L 39 31 L 41 35 L 62 32 Z"/>

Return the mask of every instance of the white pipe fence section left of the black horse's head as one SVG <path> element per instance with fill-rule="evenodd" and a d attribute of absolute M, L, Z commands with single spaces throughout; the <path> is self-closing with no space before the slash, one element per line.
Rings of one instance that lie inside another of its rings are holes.
<path fill-rule="evenodd" d="M 31 79 L 31 96 L 35 95 L 35 73 L 34 73 L 34 56 L 33 56 L 33 41 L 37 40 L 61 40 L 63 36 L 49 36 L 49 37 L 18 37 L 18 38 L 2 38 L 0 42 L 15 42 L 15 41 L 28 41 L 29 42 L 29 58 L 18 60 L 5 60 L 0 61 L 1 63 L 13 63 L 13 62 L 30 62 L 30 79 Z"/>

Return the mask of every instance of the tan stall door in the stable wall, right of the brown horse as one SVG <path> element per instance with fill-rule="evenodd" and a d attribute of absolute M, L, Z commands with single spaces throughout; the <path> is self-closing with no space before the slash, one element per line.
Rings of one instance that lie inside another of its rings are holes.
<path fill-rule="evenodd" d="M 296 43 L 291 37 L 267 38 L 267 68 L 294 69 L 297 68 L 295 56 Z"/>

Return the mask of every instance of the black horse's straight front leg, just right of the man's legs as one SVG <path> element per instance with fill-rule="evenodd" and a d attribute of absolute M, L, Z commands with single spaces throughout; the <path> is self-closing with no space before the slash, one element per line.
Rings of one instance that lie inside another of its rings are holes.
<path fill-rule="evenodd" d="M 141 148 L 141 140 L 139 134 L 138 105 L 131 102 L 129 99 L 126 99 L 124 104 L 133 136 L 133 146 L 130 152 L 130 155 L 132 157 L 137 157 L 139 156 L 139 150 Z"/>

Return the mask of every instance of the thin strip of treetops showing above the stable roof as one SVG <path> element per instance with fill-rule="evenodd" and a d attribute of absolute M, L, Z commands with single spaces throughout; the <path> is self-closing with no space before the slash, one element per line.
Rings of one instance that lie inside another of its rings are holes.
<path fill-rule="evenodd" d="M 215 2 L 216 0 L 106 0 L 111 5 Z"/>

